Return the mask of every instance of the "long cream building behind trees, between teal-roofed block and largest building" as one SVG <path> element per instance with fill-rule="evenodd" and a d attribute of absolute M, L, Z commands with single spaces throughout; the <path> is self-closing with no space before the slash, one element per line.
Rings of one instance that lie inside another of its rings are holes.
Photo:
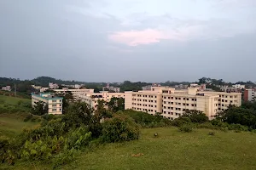
<path fill-rule="evenodd" d="M 84 93 L 77 95 L 77 99 L 84 101 L 94 109 L 96 109 L 97 101 L 99 99 L 103 99 L 104 101 L 108 102 L 114 97 L 125 99 L 125 93 L 108 93 L 108 91 L 103 91 L 100 93 Z"/>

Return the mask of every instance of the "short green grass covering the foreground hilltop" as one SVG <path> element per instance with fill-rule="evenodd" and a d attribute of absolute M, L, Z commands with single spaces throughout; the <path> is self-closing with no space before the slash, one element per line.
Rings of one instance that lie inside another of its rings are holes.
<path fill-rule="evenodd" d="M 182 133 L 175 127 L 142 130 L 137 141 L 105 144 L 83 152 L 59 169 L 256 169 L 256 133 L 197 129 Z M 154 138 L 154 133 L 159 133 Z M 143 156 L 131 156 L 143 153 Z M 10 168 L 10 167 L 6 167 Z M 50 169 L 47 164 L 18 163 L 13 169 Z"/>

